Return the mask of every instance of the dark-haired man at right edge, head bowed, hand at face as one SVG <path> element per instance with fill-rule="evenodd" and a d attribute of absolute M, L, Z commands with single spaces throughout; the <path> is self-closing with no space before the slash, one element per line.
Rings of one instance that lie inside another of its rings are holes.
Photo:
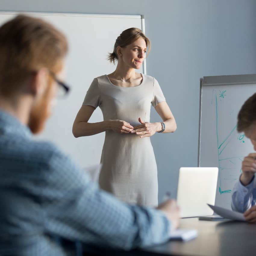
<path fill-rule="evenodd" d="M 239 111 L 238 132 L 244 132 L 256 151 L 256 93 L 245 101 Z M 242 161 L 242 174 L 235 184 L 231 207 L 244 213 L 249 222 L 256 222 L 256 153 L 251 153 Z"/>

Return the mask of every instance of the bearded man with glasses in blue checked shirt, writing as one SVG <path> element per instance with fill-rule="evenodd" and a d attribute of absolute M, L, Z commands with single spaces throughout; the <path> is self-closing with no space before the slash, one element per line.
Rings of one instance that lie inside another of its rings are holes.
<path fill-rule="evenodd" d="M 123 203 L 55 145 L 33 139 L 57 90 L 68 92 L 67 48 L 40 19 L 19 15 L 0 27 L 1 256 L 75 255 L 82 243 L 129 250 L 165 242 L 178 226 L 174 200 L 158 209 Z"/>

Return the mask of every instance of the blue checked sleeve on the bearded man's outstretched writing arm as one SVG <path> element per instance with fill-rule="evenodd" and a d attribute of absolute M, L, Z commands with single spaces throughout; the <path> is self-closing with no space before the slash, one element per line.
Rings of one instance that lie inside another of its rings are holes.
<path fill-rule="evenodd" d="M 131 249 L 165 242 L 171 223 L 159 210 L 119 201 L 92 183 L 67 156 L 54 153 L 42 201 L 47 232 L 96 246 Z"/>

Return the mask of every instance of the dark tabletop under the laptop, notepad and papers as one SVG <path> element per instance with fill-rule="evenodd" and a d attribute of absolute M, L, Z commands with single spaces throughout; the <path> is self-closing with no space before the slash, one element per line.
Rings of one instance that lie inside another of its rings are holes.
<path fill-rule="evenodd" d="M 95 255 L 256 256 L 256 224 L 185 218 L 181 219 L 180 228 L 197 229 L 198 237 L 187 242 L 170 241 L 129 252 L 100 249 Z"/>

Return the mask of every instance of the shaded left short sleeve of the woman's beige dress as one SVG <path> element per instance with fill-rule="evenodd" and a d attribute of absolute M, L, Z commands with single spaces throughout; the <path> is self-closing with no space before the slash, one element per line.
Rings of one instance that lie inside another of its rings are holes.
<path fill-rule="evenodd" d="M 94 78 L 88 91 L 86 92 L 83 105 L 97 108 L 100 105 L 100 88 L 97 78 Z"/>

